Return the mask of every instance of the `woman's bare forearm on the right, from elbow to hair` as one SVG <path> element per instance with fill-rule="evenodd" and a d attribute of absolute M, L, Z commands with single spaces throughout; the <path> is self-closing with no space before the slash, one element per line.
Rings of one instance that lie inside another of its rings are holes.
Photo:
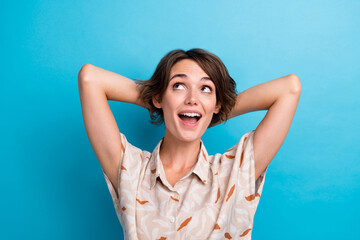
<path fill-rule="evenodd" d="M 239 93 L 236 104 L 230 113 L 230 118 L 248 112 L 269 109 L 283 94 L 297 91 L 299 82 L 296 75 L 290 74 L 261 83 Z"/>

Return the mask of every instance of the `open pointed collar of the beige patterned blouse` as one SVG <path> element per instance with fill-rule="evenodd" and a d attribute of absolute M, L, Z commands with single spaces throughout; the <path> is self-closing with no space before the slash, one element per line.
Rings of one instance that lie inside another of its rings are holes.
<path fill-rule="evenodd" d="M 166 179 L 164 167 L 160 160 L 160 146 L 163 139 L 156 145 L 150 158 L 150 190 L 155 186 L 158 177 L 163 181 Z M 195 166 L 191 169 L 191 172 L 195 173 L 203 184 L 208 182 L 208 173 L 210 168 L 209 155 L 206 151 L 203 141 L 201 140 L 200 152 L 198 155 L 198 161 Z"/>

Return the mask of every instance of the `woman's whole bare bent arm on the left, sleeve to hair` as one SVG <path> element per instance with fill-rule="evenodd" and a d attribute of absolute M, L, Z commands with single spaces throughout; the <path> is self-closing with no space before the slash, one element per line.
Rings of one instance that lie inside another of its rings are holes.
<path fill-rule="evenodd" d="M 78 74 L 78 87 L 90 144 L 116 190 L 123 148 L 119 128 L 108 100 L 144 106 L 139 99 L 137 84 L 117 73 L 85 64 Z"/>

